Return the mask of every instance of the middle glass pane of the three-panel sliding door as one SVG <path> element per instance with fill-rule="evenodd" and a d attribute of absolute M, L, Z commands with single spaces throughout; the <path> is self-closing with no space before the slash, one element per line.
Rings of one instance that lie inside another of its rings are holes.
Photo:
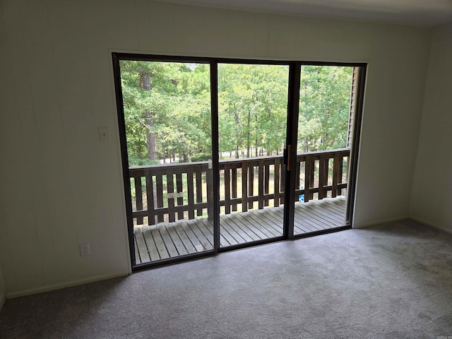
<path fill-rule="evenodd" d="M 289 66 L 218 64 L 220 246 L 283 236 Z"/>

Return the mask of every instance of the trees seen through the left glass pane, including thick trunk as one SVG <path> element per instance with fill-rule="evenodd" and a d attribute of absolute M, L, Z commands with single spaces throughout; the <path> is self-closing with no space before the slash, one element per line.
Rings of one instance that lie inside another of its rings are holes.
<path fill-rule="evenodd" d="M 121 83 L 131 165 L 210 152 L 206 65 L 121 61 Z"/>

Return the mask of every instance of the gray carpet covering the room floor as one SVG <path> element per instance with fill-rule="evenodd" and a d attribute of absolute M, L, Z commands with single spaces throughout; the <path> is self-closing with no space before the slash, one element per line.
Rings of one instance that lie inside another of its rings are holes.
<path fill-rule="evenodd" d="M 452 235 L 406 220 L 10 299 L 0 338 L 452 338 Z"/>

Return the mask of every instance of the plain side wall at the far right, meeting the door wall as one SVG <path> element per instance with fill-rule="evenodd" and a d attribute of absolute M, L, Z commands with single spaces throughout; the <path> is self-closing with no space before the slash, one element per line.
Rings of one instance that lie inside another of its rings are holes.
<path fill-rule="evenodd" d="M 434 30 L 412 189 L 413 218 L 452 232 L 452 24 Z"/>

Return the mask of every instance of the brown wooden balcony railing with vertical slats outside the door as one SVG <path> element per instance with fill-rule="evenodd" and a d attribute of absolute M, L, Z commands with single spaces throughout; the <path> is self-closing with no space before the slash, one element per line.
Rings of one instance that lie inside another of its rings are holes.
<path fill-rule="evenodd" d="M 341 195 L 347 188 L 349 148 L 297 155 L 297 196 L 304 201 Z M 284 203 L 283 155 L 220 160 L 222 213 Z M 213 209 L 210 162 L 130 167 L 136 225 L 194 219 Z"/>

